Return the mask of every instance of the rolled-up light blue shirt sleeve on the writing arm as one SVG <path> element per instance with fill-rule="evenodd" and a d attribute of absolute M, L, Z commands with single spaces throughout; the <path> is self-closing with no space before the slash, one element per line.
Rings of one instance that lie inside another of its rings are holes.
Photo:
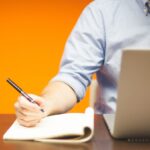
<path fill-rule="evenodd" d="M 65 46 L 59 73 L 52 81 L 63 81 L 77 95 L 78 101 L 104 61 L 104 21 L 96 3 L 90 3 L 82 12 Z"/>

